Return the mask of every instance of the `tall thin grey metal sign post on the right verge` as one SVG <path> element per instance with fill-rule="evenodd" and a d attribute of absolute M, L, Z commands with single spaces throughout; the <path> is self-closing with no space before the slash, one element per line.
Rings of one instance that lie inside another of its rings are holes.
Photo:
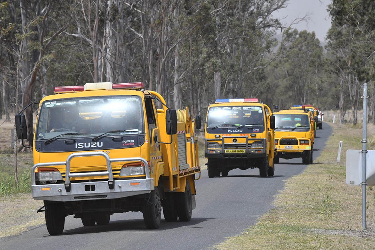
<path fill-rule="evenodd" d="M 363 84 L 363 132 L 362 132 L 362 229 L 366 229 L 366 129 L 367 129 L 367 83 Z"/>

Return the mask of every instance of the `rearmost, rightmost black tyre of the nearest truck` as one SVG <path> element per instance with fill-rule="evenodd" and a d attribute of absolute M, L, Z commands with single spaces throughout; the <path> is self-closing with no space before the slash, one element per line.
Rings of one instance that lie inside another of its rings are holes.
<path fill-rule="evenodd" d="M 181 222 L 188 222 L 192 214 L 192 198 L 189 180 L 186 179 L 185 192 L 177 193 L 177 214 Z"/>

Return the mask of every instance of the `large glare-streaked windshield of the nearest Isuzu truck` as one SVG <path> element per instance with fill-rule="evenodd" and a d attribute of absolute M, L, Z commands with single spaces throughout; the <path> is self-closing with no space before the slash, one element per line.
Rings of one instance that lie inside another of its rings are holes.
<path fill-rule="evenodd" d="M 43 102 L 36 139 L 137 135 L 143 133 L 143 109 L 138 96 L 87 97 Z"/>

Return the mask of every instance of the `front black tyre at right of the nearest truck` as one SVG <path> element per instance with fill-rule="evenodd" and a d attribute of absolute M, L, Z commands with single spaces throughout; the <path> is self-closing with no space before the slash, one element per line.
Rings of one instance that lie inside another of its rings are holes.
<path fill-rule="evenodd" d="M 159 188 L 151 191 L 147 201 L 142 207 L 143 220 L 147 229 L 157 229 L 160 225 L 162 202 L 160 200 Z"/>

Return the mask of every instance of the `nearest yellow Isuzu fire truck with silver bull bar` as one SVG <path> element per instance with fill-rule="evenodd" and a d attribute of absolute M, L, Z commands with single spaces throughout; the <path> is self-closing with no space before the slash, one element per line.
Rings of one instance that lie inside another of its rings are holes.
<path fill-rule="evenodd" d="M 44 201 L 38 212 L 45 212 L 50 235 L 62 234 L 68 215 L 93 226 L 107 225 L 114 213 L 141 211 L 148 229 L 159 228 L 162 210 L 166 221 L 190 220 L 200 167 L 199 122 L 188 108 L 167 108 L 141 82 L 54 92 L 39 103 L 31 169 L 31 193 Z M 27 139 L 21 112 L 17 136 Z"/>

